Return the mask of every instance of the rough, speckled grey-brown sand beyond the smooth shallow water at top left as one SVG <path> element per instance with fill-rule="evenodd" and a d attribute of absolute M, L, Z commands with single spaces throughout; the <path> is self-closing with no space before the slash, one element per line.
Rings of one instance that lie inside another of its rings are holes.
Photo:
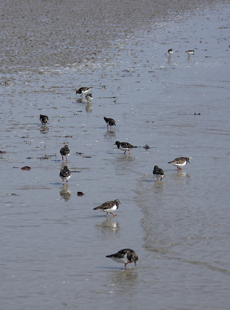
<path fill-rule="evenodd" d="M 171 22 L 202 15 L 217 5 L 218 1 L 1 1 L 1 72 L 96 63 L 104 48 L 116 49 L 140 31 L 154 34 L 166 23 L 170 28 Z"/>

